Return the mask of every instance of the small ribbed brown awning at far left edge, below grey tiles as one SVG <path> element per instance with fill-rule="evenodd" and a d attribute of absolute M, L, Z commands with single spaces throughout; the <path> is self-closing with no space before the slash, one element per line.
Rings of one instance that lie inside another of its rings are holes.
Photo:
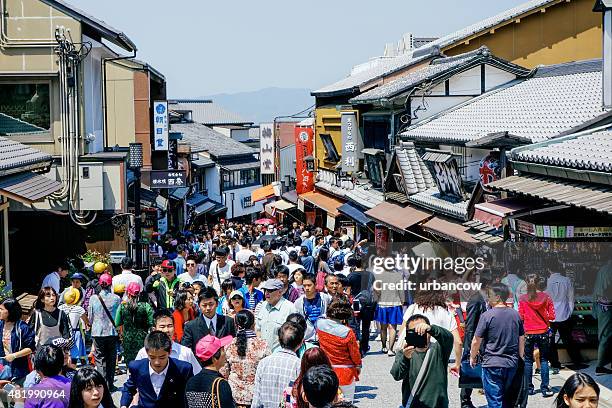
<path fill-rule="evenodd" d="M 31 171 L 0 178 L 0 195 L 24 204 L 40 201 L 61 188 L 60 182 Z"/>

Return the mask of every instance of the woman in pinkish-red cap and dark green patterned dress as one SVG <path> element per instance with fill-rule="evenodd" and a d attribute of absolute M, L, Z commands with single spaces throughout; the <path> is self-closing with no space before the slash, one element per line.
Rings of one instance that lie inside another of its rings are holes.
<path fill-rule="evenodd" d="M 153 308 L 148 302 L 139 301 L 138 283 L 130 282 L 125 291 L 128 299 L 119 306 L 115 324 L 123 326 L 123 357 L 125 361 L 132 361 L 153 326 Z"/>

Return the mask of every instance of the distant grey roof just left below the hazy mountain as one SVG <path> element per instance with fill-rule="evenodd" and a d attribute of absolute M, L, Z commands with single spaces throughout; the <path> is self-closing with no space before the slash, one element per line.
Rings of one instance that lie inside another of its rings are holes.
<path fill-rule="evenodd" d="M 194 122 L 207 126 L 250 125 L 253 123 L 241 118 L 237 113 L 223 109 L 210 100 L 177 99 L 169 101 L 168 105 L 168 108 L 173 111 L 191 111 L 191 118 Z"/>

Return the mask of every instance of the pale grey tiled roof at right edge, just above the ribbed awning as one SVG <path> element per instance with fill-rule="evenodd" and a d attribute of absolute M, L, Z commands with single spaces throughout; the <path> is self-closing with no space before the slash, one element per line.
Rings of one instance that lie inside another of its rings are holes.
<path fill-rule="evenodd" d="M 514 149 L 512 159 L 610 173 L 612 172 L 612 131 L 564 136 Z"/>

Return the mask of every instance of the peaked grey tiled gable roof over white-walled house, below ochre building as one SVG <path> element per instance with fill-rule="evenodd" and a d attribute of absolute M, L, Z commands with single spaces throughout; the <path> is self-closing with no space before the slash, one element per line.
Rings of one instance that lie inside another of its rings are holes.
<path fill-rule="evenodd" d="M 482 63 L 488 63 L 523 76 L 528 75 L 530 72 L 526 68 L 491 55 L 487 47 L 481 47 L 475 51 L 470 51 L 454 57 L 435 59 L 425 67 L 356 96 L 349 102 L 364 104 L 387 100 L 405 93 L 411 88 L 426 81 L 431 81 L 432 84 L 435 85 L 446 80 L 454 73 L 465 71 Z"/>

